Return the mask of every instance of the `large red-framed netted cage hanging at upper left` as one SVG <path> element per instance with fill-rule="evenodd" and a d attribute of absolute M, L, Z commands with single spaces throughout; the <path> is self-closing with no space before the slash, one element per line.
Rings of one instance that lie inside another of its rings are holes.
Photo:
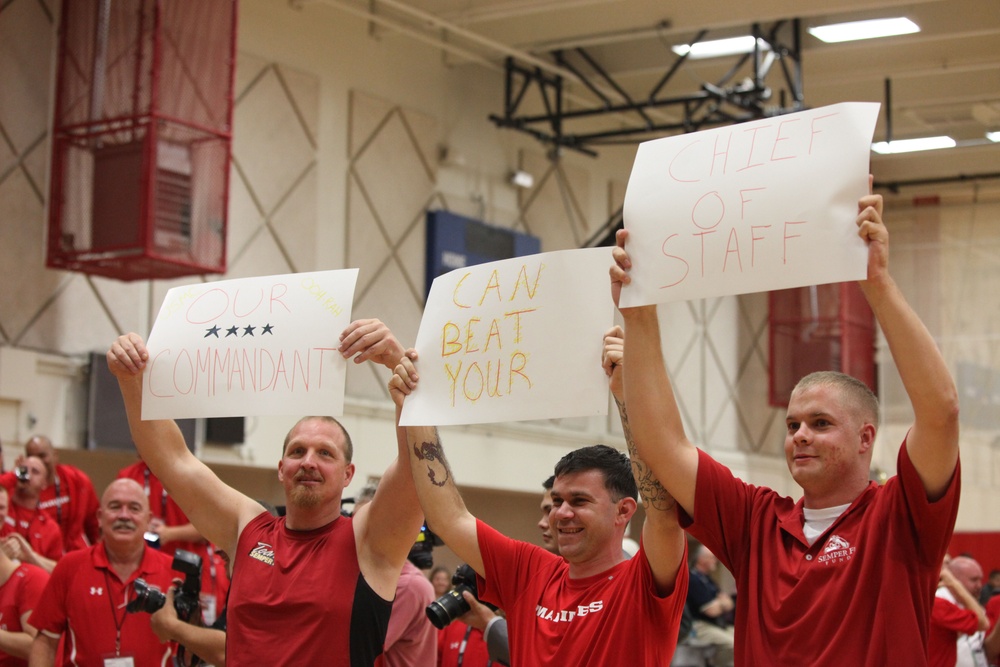
<path fill-rule="evenodd" d="M 235 0 L 64 0 L 49 266 L 225 271 L 235 12 Z"/>

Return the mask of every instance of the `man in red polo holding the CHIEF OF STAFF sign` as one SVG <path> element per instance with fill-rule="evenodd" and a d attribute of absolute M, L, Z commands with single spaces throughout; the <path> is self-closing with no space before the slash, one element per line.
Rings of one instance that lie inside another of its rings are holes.
<path fill-rule="evenodd" d="M 958 398 L 889 275 L 881 196 L 860 199 L 856 223 L 868 246 L 861 288 L 915 417 L 884 486 L 868 480 L 877 399 L 834 372 L 806 376 L 788 405 L 785 457 L 802 498 L 734 477 L 684 433 L 655 305 L 620 308 L 632 435 L 682 523 L 736 578 L 736 665 L 927 664 L 933 593 L 958 511 Z M 616 304 L 638 271 L 628 240 L 618 232 Z"/>

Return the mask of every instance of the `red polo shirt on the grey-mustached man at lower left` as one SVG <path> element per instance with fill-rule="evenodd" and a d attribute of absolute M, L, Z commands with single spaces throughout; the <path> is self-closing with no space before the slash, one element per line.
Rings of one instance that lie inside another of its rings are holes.
<path fill-rule="evenodd" d="M 146 548 L 142 562 L 128 581 L 121 581 L 108 563 L 103 544 L 73 551 L 56 564 L 30 623 L 49 637 L 64 635 L 64 667 L 102 665 L 115 654 L 115 636 L 120 633 L 121 655 L 133 656 L 138 665 L 165 665 L 173 644 L 161 644 L 153 633 L 149 614 L 128 613 L 133 583 L 146 583 L 167 590 L 175 572 L 170 556 Z"/>

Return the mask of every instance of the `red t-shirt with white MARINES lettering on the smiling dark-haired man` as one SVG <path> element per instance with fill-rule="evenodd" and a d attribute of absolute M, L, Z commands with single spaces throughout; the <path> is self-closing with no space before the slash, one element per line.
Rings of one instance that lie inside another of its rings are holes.
<path fill-rule="evenodd" d="M 668 665 L 677 646 L 688 569 L 656 593 L 646 552 L 609 570 L 570 579 L 569 564 L 541 547 L 476 522 L 486 578 L 480 599 L 507 612 L 512 665 Z"/>

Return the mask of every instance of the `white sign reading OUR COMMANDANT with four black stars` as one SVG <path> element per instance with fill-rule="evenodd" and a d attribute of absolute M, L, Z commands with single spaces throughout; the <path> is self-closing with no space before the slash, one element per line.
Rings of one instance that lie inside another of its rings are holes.
<path fill-rule="evenodd" d="M 142 418 L 326 414 L 344 409 L 357 269 L 175 287 L 153 323 Z"/>

